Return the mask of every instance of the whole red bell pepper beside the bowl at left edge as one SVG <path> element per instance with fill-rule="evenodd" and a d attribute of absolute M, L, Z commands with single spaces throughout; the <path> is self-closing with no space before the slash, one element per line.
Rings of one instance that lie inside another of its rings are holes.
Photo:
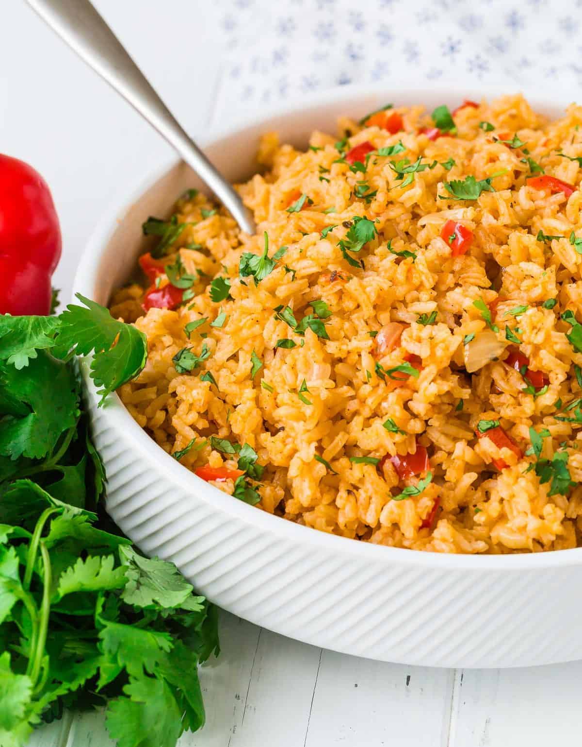
<path fill-rule="evenodd" d="M 31 166 L 0 154 L 0 313 L 50 314 L 62 240 L 48 186 Z"/>

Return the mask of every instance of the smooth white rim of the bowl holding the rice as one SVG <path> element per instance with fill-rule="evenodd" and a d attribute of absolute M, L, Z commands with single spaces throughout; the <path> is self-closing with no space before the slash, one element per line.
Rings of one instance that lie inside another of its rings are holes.
<path fill-rule="evenodd" d="M 533 108 L 566 108 L 571 101 L 563 96 L 556 95 L 549 88 L 536 87 L 536 90 L 528 90 L 528 87 L 519 87 L 524 93 L 528 103 Z M 507 81 L 493 84 L 475 84 L 470 95 L 475 98 L 494 99 L 504 94 L 516 94 L 516 85 L 507 84 Z M 389 92 L 389 95 L 388 93 Z M 299 112 L 309 116 L 310 111 L 325 105 L 339 105 L 345 103 L 346 108 L 357 104 L 359 100 L 378 98 L 378 100 L 393 99 L 398 105 L 410 105 L 412 103 L 422 104 L 425 97 L 434 97 L 439 93 L 446 100 L 466 99 L 469 95 L 466 87 L 458 84 L 447 84 L 443 81 L 428 86 L 422 81 L 418 86 L 409 82 L 406 87 L 389 87 L 385 84 L 375 84 L 361 87 L 358 84 L 335 87 L 325 92 L 315 92 L 304 96 L 300 102 L 292 102 L 284 108 L 272 106 L 266 108 L 260 117 L 248 116 L 237 120 L 236 125 L 219 128 L 213 137 L 200 139 L 203 146 L 215 146 L 223 139 L 233 137 L 244 137 L 246 132 L 255 129 L 274 117 L 284 117 L 287 114 L 298 114 Z M 410 103 L 407 103 L 410 102 Z M 74 294 L 81 293 L 87 297 L 93 297 L 94 278 L 97 274 L 101 254 L 115 232 L 119 224 L 119 216 L 125 216 L 128 209 L 143 195 L 148 187 L 154 185 L 158 179 L 175 167 L 180 161 L 175 156 L 158 160 L 154 167 L 148 167 L 134 182 L 134 187 L 129 190 L 117 190 L 110 201 L 110 205 L 99 219 L 96 228 L 90 235 L 87 246 L 81 255 L 78 269 L 73 280 L 72 298 Z M 88 362 L 82 361 L 81 367 L 87 379 L 89 371 Z M 96 391 L 93 385 L 88 387 L 88 394 L 97 402 Z M 179 462 L 166 453 L 147 433 L 125 408 L 119 395 L 116 393 L 107 397 L 102 409 L 104 417 L 110 421 L 110 427 L 116 432 L 124 434 L 124 440 L 131 442 L 131 447 L 140 453 L 140 456 L 148 459 L 148 462 L 157 462 L 164 476 L 178 483 L 184 492 L 192 490 L 195 480 L 197 495 L 205 503 L 216 506 L 222 512 L 228 513 L 233 518 L 257 527 L 257 529 L 269 532 L 289 542 L 310 545 L 313 550 L 330 551 L 334 554 L 342 554 L 346 558 L 357 557 L 358 560 L 369 560 L 375 563 L 386 563 L 393 565 L 398 562 L 415 568 L 463 568 L 470 570 L 481 570 L 496 572 L 499 570 L 519 571 L 532 568 L 557 568 L 582 564 L 582 547 L 569 548 L 561 551 L 548 551 L 537 553 L 513 553 L 500 555 L 484 554 L 445 554 L 407 548 L 393 548 L 386 545 L 375 545 L 371 542 L 356 542 L 348 537 L 329 534 L 312 527 L 296 524 L 294 521 L 285 521 L 283 518 L 257 510 L 231 495 L 215 488 L 193 472 L 182 466 Z"/>

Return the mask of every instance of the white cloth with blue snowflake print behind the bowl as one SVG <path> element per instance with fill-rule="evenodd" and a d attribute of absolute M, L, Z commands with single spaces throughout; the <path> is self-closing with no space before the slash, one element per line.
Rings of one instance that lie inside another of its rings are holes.
<path fill-rule="evenodd" d="M 215 118 L 350 83 L 582 86 L 582 0 L 220 0 Z"/>

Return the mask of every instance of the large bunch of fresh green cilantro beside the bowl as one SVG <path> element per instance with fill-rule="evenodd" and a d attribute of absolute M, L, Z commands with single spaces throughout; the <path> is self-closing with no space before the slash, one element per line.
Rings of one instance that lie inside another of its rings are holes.
<path fill-rule="evenodd" d="M 106 397 L 146 347 L 79 298 L 57 317 L 0 316 L 0 745 L 102 706 L 119 747 L 174 747 L 204 723 L 197 669 L 219 651 L 216 610 L 101 509 L 72 358 L 94 353 Z"/>

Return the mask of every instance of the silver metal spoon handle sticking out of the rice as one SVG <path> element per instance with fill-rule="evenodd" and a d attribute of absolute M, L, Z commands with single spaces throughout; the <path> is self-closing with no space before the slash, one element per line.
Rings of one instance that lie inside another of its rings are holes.
<path fill-rule="evenodd" d="M 253 234 L 254 220 L 240 196 L 208 161 L 169 108 L 148 83 L 125 47 L 89 0 L 27 0 L 98 75 L 101 75 L 166 138 L 237 221 L 242 231 Z"/>

